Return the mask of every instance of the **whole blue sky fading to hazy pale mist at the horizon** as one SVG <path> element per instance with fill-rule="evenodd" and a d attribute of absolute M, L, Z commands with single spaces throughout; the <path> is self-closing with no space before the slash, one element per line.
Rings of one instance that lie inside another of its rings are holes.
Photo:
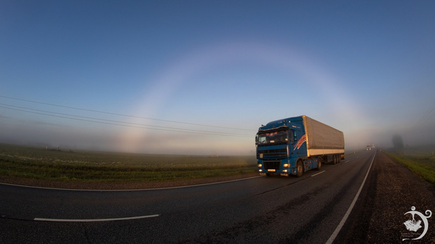
<path fill-rule="evenodd" d="M 254 155 L 307 115 L 435 144 L 435 1 L 0 1 L 0 143 Z"/>

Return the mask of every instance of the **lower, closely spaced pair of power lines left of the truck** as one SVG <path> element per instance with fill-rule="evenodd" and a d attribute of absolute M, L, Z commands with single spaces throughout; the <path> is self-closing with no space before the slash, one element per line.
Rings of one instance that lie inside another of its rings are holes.
<path fill-rule="evenodd" d="M 142 129 L 155 129 L 160 131 L 174 131 L 174 132 L 184 132 L 184 133 L 197 133 L 197 134 L 206 134 L 206 135 L 214 135 L 214 136 L 242 136 L 242 137 L 251 137 L 249 135 L 245 134 L 238 134 L 238 133 L 227 133 L 227 132 L 217 132 L 217 131 L 202 131 L 202 130 L 196 130 L 196 129 L 183 129 L 183 128 L 176 128 L 176 127 L 162 127 L 157 125 L 150 125 L 150 124 L 139 124 L 139 123 L 132 123 L 132 122 L 123 122 L 118 120 L 106 120 L 106 119 L 100 119 L 96 117 L 86 117 L 86 116 L 80 116 L 80 115 L 71 115 L 67 113 L 56 113 L 51 111 L 43 111 L 40 109 L 35 108 L 25 108 L 22 106 L 14 106 L 10 104 L 1 104 L 3 106 L 0 106 L 0 108 L 7 108 L 14 111 L 22 111 L 26 113 L 33 113 L 33 114 L 39 114 L 39 115 L 46 115 L 51 117 L 61 117 L 66 118 L 70 120 L 80 120 L 85 122 L 94 122 L 94 123 L 100 123 L 100 124 L 112 124 L 112 125 L 119 125 L 123 127 L 135 127 L 135 128 L 142 128 Z"/>

